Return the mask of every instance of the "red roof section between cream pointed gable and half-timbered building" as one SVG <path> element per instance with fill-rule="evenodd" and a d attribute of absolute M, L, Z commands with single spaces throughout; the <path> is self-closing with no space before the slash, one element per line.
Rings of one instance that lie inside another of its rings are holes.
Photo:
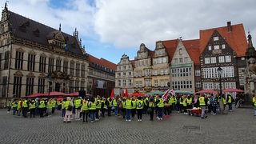
<path fill-rule="evenodd" d="M 199 39 L 182 41 L 194 64 L 200 64 Z"/>

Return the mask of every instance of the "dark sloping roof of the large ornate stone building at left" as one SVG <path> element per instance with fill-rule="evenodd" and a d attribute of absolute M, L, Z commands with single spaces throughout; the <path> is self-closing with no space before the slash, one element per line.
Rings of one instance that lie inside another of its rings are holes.
<path fill-rule="evenodd" d="M 54 34 L 60 32 L 50 26 L 43 25 L 42 23 L 35 22 L 30 18 L 23 17 L 22 15 L 15 14 L 14 12 L 8 11 L 9 21 L 11 24 L 11 31 L 14 37 L 29 40 L 31 42 L 37 42 L 44 46 L 50 46 L 48 43 L 49 38 L 53 38 Z M 68 51 L 83 55 L 81 46 L 78 43 L 77 38 L 61 32 L 64 38 L 67 38 Z"/>

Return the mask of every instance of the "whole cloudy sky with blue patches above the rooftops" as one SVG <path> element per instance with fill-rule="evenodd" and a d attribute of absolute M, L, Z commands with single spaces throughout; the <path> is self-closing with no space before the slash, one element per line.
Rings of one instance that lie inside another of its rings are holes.
<path fill-rule="evenodd" d="M 3 7 L 5 1 L 1 0 Z M 141 43 L 182 37 L 199 38 L 199 30 L 243 23 L 256 46 L 255 0 L 8 0 L 8 9 L 72 35 L 96 58 L 118 63 L 134 59 Z M 254 47 L 255 47 L 254 46 Z"/>

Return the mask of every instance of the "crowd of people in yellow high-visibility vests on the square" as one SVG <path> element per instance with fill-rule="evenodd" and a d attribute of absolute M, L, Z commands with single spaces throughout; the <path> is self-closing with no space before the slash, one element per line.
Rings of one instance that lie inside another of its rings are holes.
<path fill-rule="evenodd" d="M 172 111 L 178 113 L 191 114 L 191 110 L 200 109 L 201 118 L 207 118 L 207 114 L 224 114 L 226 105 L 228 110 L 232 111 L 232 103 L 236 102 L 231 95 L 226 98 L 218 94 L 202 95 L 169 95 L 166 99 L 162 96 L 146 97 L 77 97 L 62 98 L 58 101 L 55 98 L 35 98 L 35 99 L 14 99 L 14 102 L 8 102 L 8 111 L 12 108 L 12 114 L 23 116 L 25 118 L 30 114 L 30 118 L 39 115 L 40 118 L 51 117 L 54 110 L 62 110 L 63 122 L 74 121 L 90 122 L 98 121 L 100 118 L 115 115 L 122 116 L 127 122 L 135 119 L 137 114 L 138 122 L 142 121 L 143 114 L 150 115 L 150 121 L 154 120 L 154 115 L 158 120 L 164 117 L 168 118 Z M 256 107 L 256 97 L 253 99 Z M 207 114 L 206 114 L 207 112 Z M 256 108 L 254 110 L 256 115 Z M 191 114 L 192 115 L 192 114 Z"/>

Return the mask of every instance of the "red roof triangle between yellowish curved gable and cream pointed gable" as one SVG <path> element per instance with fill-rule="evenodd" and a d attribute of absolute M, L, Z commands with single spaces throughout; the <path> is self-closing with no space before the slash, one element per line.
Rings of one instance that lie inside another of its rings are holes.
<path fill-rule="evenodd" d="M 178 46 L 178 39 L 162 41 L 163 45 L 166 46 L 166 52 L 169 55 L 170 61 L 174 57 L 175 50 Z"/>

